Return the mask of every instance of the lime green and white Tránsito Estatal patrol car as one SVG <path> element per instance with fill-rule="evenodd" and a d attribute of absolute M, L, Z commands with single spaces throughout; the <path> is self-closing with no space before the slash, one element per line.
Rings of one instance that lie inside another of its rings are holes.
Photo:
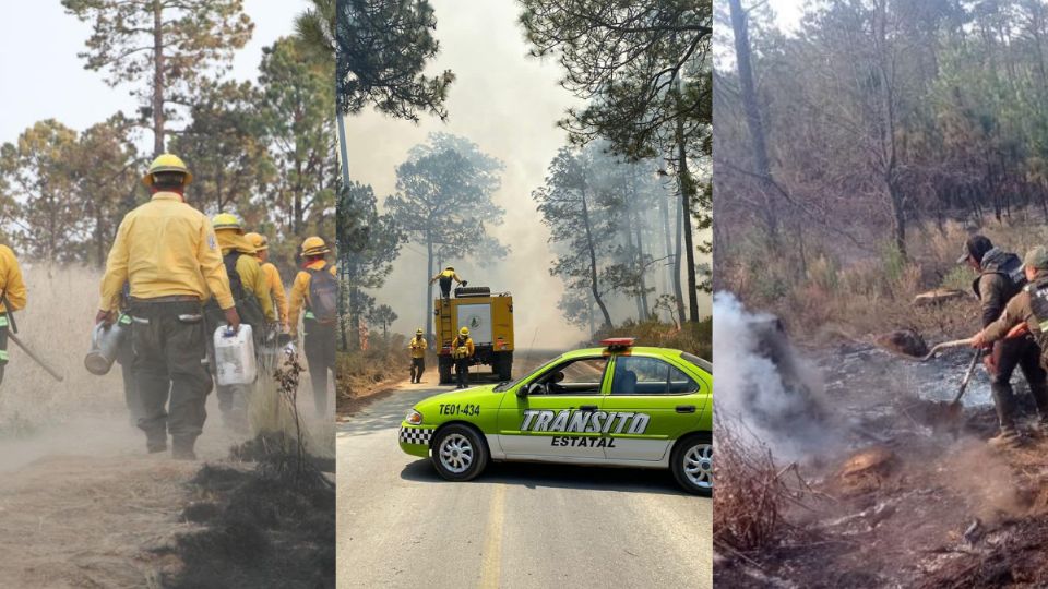
<path fill-rule="evenodd" d="M 441 477 L 476 478 L 496 461 L 670 469 L 713 492 L 713 364 L 631 338 L 575 350 L 514 382 L 436 395 L 401 424 L 401 449 Z"/>

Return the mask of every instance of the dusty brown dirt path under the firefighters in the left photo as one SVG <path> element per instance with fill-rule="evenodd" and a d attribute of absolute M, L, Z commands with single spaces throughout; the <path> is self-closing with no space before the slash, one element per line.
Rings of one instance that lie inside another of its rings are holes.
<path fill-rule="evenodd" d="M 223 428 L 213 395 L 207 411 L 193 462 L 147 455 L 120 409 L 0 441 L 0 587 L 160 587 L 182 566 L 177 539 L 202 529 L 182 517 L 209 498 L 189 481 L 205 462 L 253 468 L 229 460 L 246 435 Z"/>

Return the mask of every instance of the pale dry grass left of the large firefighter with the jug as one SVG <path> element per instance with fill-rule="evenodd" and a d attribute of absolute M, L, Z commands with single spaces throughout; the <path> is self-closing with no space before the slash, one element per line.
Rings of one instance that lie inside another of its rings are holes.
<path fill-rule="evenodd" d="M 23 273 L 28 304 L 15 314 L 19 337 L 66 381 L 56 382 L 11 344 L 11 363 L 0 386 L 0 436 L 123 407 L 120 366 L 99 377 L 83 365 L 98 308 L 100 272 L 26 265 Z"/>

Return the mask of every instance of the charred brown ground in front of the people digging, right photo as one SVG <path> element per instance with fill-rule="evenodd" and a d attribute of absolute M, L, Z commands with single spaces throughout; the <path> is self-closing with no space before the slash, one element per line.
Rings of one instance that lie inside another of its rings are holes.
<path fill-rule="evenodd" d="M 950 419 L 937 399 L 956 392 L 967 352 L 919 365 L 857 345 L 809 356 L 836 435 L 783 474 L 799 498 L 777 545 L 722 554 L 717 585 L 1048 585 L 1048 440 L 986 444 L 996 416 L 981 368 L 969 406 Z M 1033 404 L 1015 383 L 1028 421 Z"/>

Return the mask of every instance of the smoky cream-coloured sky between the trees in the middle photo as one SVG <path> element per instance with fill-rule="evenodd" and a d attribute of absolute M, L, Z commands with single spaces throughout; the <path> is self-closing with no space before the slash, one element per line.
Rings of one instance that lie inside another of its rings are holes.
<path fill-rule="evenodd" d="M 430 117 L 415 125 L 374 112 L 349 119 L 350 176 L 371 184 L 381 202 L 395 190 L 396 166 L 432 131 L 466 136 L 500 158 L 505 170 L 495 201 L 507 209 L 507 223 L 489 229 L 511 248 L 511 254 L 490 268 L 475 262 L 452 262 L 471 286 L 513 293 L 520 349 L 526 349 L 536 334 L 536 347 L 575 344 L 586 334 L 565 326 L 557 310 L 563 289 L 559 278 L 549 276 L 549 233 L 531 196 L 565 143 L 556 122 L 574 99 L 558 85 L 561 70 L 555 61 L 527 57 L 523 29 L 516 22 L 519 3 L 488 0 L 469 10 L 462 10 L 455 0 L 432 3 L 441 44 L 433 69 L 451 69 L 457 76 L 448 101 L 450 120 L 444 124 Z M 385 288 L 376 293 L 400 315 L 394 328 L 402 333 L 425 324 L 426 272 L 425 247 L 410 243 Z M 703 312 L 708 308 L 706 300 Z M 618 321 L 621 318 L 619 315 Z"/>

